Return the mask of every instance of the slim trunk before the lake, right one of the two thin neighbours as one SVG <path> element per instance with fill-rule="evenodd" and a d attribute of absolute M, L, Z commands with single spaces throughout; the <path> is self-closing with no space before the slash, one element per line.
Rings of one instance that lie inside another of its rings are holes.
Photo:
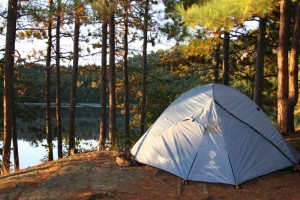
<path fill-rule="evenodd" d="M 62 132 L 61 132 L 61 86 L 60 86 L 60 25 L 61 25 L 61 0 L 57 1 L 56 20 L 56 135 L 57 156 L 63 157 Z"/>

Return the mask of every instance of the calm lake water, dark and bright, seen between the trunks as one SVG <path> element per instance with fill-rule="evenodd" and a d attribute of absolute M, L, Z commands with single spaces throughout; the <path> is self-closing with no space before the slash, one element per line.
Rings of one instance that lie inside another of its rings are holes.
<path fill-rule="evenodd" d="M 76 107 L 76 140 L 77 147 L 81 150 L 97 149 L 100 122 L 99 104 L 78 104 Z M 18 112 L 18 145 L 20 168 L 40 164 L 46 159 L 47 151 L 45 148 L 45 108 L 43 104 L 26 104 Z M 117 123 L 121 123 L 121 118 Z M 62 126 L 64 135 L 64 151 L 67 152 L 67 135 L 69 125 L 69 106 L 62 107 Z M 54 134 L 54 159 L 57 159 L 57 141 L 55 137 L 55 107 L 52 109 L 52 133 Z M 0 144 L 0 147 L 2 144 Z M 11 156 L 13 159 L 13 155 Z M 1 156 L 0 156 L 1 159 Z M 12 160 L 13 163 L 13 160 Z"/>

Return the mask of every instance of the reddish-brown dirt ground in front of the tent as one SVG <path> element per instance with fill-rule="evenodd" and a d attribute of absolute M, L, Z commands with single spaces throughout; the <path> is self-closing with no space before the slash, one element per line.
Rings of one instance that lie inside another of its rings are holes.
<path fill-rule="evenodd" d="M 287 140 L 300 150 L 300 138 Z M 0 176 L 0 199 L 213 200 L 300 199 L 300 172 L 274 172 L 242 184 L 182 181 L 150 166 L 120 167 L 116 152 L 93 152 L 43 163 L 9 176 Z"/>

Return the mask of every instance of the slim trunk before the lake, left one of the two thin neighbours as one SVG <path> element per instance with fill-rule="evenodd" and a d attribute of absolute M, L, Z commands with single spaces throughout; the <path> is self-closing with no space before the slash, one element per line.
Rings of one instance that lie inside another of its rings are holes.
<path fill-rule="evenodd" d="M 47 60 L 46 60 L 46 137 L 48 160 L 53 160 L 53 144 L 51 132 L 51 49 L 52 49 L 52 11 L 53 1 L 49 0 L 50 17 L 48 22 L 48 45 L 47 45 Z"/>

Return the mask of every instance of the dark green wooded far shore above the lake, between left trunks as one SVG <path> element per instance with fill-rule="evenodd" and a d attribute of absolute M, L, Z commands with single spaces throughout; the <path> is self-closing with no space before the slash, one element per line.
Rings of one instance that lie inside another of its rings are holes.
<path fill-rule="evenodd" d="M 51 83 L 55 83 L 55 69 L 51 69 Z M 77 102 L 98 103 L 100 98 L 99 73 L 95 65 L 79 68 Z M 71 68 L 61 68 L 62 103 L 70 101 Z M 41 103 L 45 95 L 45 66 L 19 65 L 16 71 L 15 92 L 18 102 Z M 51 87 L 51 102 L 55 102 L 55 87 Z"/>

